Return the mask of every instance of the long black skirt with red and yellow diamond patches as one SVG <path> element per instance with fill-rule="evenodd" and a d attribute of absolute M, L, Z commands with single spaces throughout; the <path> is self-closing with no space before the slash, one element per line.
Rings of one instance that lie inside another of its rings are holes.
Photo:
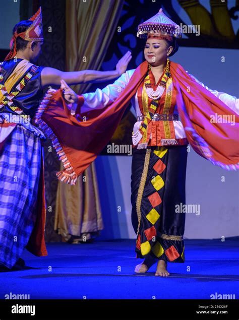
<path fill-rule="evenodd" d="M 138 258 L 184 262 L 187 146 L 133 150 L 132 224 Z M 179 212 L 178 212 L 179 211 Z"/>

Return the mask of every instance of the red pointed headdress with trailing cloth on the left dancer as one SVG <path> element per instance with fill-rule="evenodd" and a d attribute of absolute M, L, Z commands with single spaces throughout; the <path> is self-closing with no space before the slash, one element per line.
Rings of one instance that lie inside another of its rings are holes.
<path fill-rule="evenodd" d="M 43 41 L 41 7 L 29 21 L 33 21 L 33 23 L 26 31 L 21 33 L 17 33 L 17 31 L 14 32 L 10 41 L 10 52 L 5 60 L 12 59 L 17 54 L 17 37 L 21 37 L 26 41 Z"/>

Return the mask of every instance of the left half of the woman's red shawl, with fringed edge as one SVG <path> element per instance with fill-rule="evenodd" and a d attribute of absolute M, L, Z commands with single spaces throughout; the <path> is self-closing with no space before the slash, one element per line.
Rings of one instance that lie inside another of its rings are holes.
<path fill-rule="evenodd" d="M 148 63 L 142 63 L 125 90 L 110 106 L 82 114 L 87 121 L 72 116 L 61 90 L 46 94 L 35 116 L 35 122 L 52 141 L 65 169 L 59 180 L 75 184 L 76 179 L 95 160 L 113 136 L 131 98 L 144 81 Z"/>

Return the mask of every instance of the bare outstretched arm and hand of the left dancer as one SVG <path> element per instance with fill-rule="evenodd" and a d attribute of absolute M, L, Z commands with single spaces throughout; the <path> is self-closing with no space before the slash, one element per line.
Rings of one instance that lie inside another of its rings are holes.
<path fill-rule="evenodd" d="M 54 68 L 44 68 L 41 72 L 42 86 L 61 85 L 65 80 L 69 85 L 81 83 L 98 83 L 120 77 L 126 72 L 128 63 L 132 58 L 131 51 L 128 51 L 117 63 L 114 71 L 82 70 L 74 72 L 63 72 Z"/>

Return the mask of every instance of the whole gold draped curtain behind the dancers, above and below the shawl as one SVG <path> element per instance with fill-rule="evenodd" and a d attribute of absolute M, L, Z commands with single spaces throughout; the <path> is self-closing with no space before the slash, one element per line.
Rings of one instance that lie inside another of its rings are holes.
<path fill-rule="evenodd" d="M 100 69 L 123 4 L 123 0 L 67 0 L 67 71 Z M 73 89 L 84 93 L 89 85 Z M 73 242 L 88 240 L 103 229 L 94 163 L 76 185 L 58 182 L 54 229 L 65 241 Z"/>

